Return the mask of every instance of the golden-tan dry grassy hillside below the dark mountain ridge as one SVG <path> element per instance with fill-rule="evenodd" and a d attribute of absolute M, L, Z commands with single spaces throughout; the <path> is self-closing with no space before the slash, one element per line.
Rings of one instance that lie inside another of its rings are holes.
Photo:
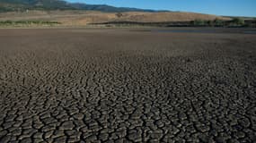
<path fill-rule="evenodd" d="M 0 13 L 0 21 L 12 20 L 45 20 L 59 21 L 64 25 L 86 25 L 88 23 L 107 21 L 140 21 L 140 22 L 162 22 L 162 21 L 193 21 L 229 20 L 229 18 L 201 13 L 101 13 L 92 11 L 30 11 L 29 13 Z"/>

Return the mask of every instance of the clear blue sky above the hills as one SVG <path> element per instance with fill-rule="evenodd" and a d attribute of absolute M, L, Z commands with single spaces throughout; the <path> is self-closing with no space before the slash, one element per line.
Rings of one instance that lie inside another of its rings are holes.
<path fill-rule="evenodd" d="M 229 16 L 256 17 L 256 0 L 66 0 L 85 4 L 110 4 L 118 7 L 136 7 L 209 13 Z"/>

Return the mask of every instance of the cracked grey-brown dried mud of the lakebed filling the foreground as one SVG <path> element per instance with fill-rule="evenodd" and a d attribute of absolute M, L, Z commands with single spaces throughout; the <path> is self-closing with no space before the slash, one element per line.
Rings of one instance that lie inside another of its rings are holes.
<path fill-rule="evenodd" d="M 0 29 L 0 142 L 253 142 L 255 39 Z"/>

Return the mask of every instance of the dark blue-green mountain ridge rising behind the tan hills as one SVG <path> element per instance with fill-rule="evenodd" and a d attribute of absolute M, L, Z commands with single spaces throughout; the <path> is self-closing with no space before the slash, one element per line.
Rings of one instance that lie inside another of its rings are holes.
<path fill-rule="evenodd" d="M 0 0 L 0 12 L 25 10 L 86 10 L 101 12 L 156 12 L 127 7 L 114 7 L 106 4 L 67 3 L 63 0 Z"/>

